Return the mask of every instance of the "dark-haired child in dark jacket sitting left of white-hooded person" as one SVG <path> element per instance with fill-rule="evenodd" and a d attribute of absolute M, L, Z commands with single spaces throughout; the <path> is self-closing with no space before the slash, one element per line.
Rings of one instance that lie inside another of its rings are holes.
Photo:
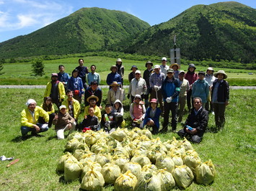
<path fill-rule="evenodd" d="M 110 104 L 105 106 L 105 114 L 103 115 L 101 126 L 108 133 L 112 133 L 112 131 L 118 128 L 118 121 Z"/>

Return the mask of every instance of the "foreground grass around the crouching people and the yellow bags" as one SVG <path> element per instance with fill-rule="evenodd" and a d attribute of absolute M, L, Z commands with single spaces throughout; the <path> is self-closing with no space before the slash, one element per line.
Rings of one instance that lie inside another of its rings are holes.
<path fill-rule="evenodd" d="M 1 190 L 79 190 L 80 182 L 61 182 L 56 174 L 56 162 L 63 154 L 66 139 L 57 140 L 53 129 L 41 137 L 20 139 L 20 112 L 28 98 L 35 98 L 38 105 L 43 100 L 43 89 L 1 89 L 3 112 L 0 126 L 0 153 L 19 158 L 11 167 L 0 162 Z M 104 90 L 106 94 L 107 90 Z M 213 116 L 210 115 L 208 132 L 200 144 L 193 144 L 203 162 L 211 159 L 216 167 L 216 180 L 212 185 L 193 183 L 187 190 L 255 190 L 255 104 L 256 90 L 231 90 L 230 104 L 226 109 L 226 126 L 214 133 Z M 105 101 L 104 101 L 105 102 Z M 128 111 L 128 101 L 124 102 Z M 186 114 L 187 115 L 187 114 Z M 125 113 L 128 119 L 128 112 Z M 81 118 L 80 118 L 81 119 Z M 185 120 L 185 118 L 184 118 Z M 129 121 L 126 120 L 127 122 Z M 126 123 L 129 124 L 129 123 Z M 177 129 L 181 129 L 178 124 Z M 177 134 L 159 134 L 162 141 Z M 157 136 L 154 136 L 155 138 Z M 105 187 L 112 190 L 113 187 Z"/>

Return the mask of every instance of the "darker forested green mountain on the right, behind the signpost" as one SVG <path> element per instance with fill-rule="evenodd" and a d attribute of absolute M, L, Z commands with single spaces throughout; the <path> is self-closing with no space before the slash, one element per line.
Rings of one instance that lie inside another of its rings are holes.
<path fill-rule="evenodd" d="M 234 1 L 193 6 L 112 50 L 169 55 L 175 34 L 181 56 L 188 60 L 256 60 L 256 11 Z"/>

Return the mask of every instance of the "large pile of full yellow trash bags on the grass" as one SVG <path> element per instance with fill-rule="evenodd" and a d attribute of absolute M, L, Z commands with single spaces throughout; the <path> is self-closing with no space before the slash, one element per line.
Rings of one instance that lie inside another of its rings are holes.
<path fill-rule="evenodd" d="M 187 139 L 162 142 L 138 128 L 70 134 L 57 171 L 66 182 L 81 180 L 82 190 L 185 189 L 193 181 L 209 185 L 216 176 L 211 159 L 201 162 Z"/>

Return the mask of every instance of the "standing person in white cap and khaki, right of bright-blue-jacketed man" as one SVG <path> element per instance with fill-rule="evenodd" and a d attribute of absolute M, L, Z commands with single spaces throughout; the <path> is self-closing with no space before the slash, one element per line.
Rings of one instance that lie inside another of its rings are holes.
<path fill-rule="evenodd" d="M 182 116 L 184 114 L 184 108 L 186 105 L 187 100 L 187 91 L 190 89 L 190 83 L 184 78 L 185 72 L 183 70 L 180 70 L 179 74 L 179 80 L 180 80 L 180 94 L 179 94 L 179 101 L 178 101 L 178 108 L 179 110 L 179 118 L 178 122 L 182 121 Z"/>

